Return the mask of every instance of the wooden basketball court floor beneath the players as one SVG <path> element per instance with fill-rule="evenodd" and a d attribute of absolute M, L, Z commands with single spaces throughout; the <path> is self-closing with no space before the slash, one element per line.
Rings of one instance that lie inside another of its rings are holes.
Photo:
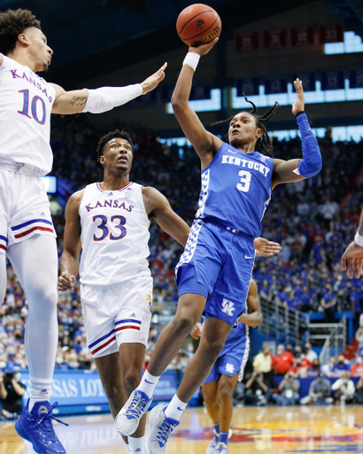
<path fill-rule="evenodd" d="M 57 433 L 67 454 L 122 454 L 125 445 L 110 415 L 63 419 L 69 427 Z M 166 453 L 205 454 L 212 439 L 211 421 L 203 408 L 187 409 L 169 440 Z M 13 422 L 0 424 L 0 454 L 34 453 Z M 363 453 L 363 407 L 245 407 L 235 409 L 229 454 Z"/>

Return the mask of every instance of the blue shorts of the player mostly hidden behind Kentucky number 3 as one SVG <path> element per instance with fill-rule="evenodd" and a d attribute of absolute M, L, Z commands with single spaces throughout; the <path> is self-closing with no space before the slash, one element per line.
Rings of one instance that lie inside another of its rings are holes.
<path fill-rule="evenodd" d="M 212 367 L 212 371 L 205 379 L 205 385 L 220 380 L 220 375 L 233 377 L 238 373 L 238 380 L 243 379 L 244 368 L 250 354 L 250 338 L 248 336 L 236 342 L 236 346 L 223 348 Z"/>

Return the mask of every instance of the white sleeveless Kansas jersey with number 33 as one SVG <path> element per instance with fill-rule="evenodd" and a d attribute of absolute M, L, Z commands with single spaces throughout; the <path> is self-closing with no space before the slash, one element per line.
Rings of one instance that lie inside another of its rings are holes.
<path fill-rule="evenodd" d="M 106 286 L 151 276 L 150 221 L 143 186 L 128 183 L 117 191 L 86 186 L 80 205 L 82 284 Z"/>

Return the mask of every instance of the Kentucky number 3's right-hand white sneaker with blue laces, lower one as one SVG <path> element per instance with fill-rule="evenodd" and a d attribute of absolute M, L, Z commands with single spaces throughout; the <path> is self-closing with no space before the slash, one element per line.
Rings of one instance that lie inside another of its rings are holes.
<path fill-rule="evenodd" d="M 176 419 L 166 418 L 165 409 L 163 405 L 157 405 L 150 412 L 150 432 L 145 440 L 146 454 L 163 454 L 170 434 L 174 427 L 179 426 Z"/>

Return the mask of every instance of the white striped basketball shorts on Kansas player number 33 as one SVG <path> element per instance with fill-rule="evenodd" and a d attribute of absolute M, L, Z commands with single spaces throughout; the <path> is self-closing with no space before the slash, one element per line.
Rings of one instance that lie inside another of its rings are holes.
<path fill-rule="evenodd" d="M 122 343 L 147 344 L 152 278 L 141 276 L 110 286 L 81 284 L 83 323 L 94 358 L 118 352 Z"/>

